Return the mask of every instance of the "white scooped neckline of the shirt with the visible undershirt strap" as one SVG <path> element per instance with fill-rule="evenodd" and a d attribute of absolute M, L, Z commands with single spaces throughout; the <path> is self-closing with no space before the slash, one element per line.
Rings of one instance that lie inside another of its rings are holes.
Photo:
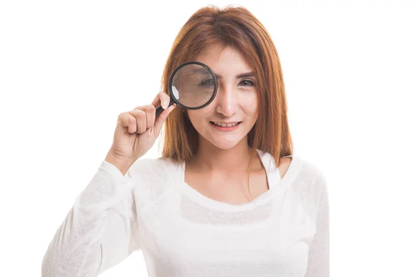
<path fill-rule="evenodd" d="M 214 210 L 248 211 L 253 208 L 259 208 L 260 206 L 268 203 L 270 199 L 272 199 L 271 195 L 278 195 L 284 192 L 288 186 L 291 186 L 293 179 L 295 179 L 297 172 L 299 172 L 302 166 L 302 160 L 295 155 L 285 156 L 292 157 L 292 161 L 283 178 L 280 178 L 279 168 L 275 166 L 275 159 L 273 159 L 272 155 L 267 152 L 262 152 L 261 150 L 257 150 L 257 154 L 259 154 L 261 163 L 266 170 L 269 189 L 258 197 L 254 198 L 254 201 L 245 202 L 243 204 L 231 204 L 228 202 L 211 199 L 203 195 L 202 193 L 198 192 L 198 190 L 192 188 L 185 182 L 185 162 L 181 163 L 179 169 L 180 176 L 179 180 L 177 181 L 177 186 L 182 193 L 187 195 L 187 197 L 191 198 L 194 202 Z"/>

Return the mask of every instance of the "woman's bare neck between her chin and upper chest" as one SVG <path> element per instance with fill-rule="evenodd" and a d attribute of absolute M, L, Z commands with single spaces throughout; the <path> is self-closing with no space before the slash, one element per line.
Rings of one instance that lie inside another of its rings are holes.
<path fill-rule="evenodd" d="M 227 150 L 201 140 L 191 164 L 204 172 L 246 172 L 253 151 L 255 150 L 248 146 L 247 139 Z"/>

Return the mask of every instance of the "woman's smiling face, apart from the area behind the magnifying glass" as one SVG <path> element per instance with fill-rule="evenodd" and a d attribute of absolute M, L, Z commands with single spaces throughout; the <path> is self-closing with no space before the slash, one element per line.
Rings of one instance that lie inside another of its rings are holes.
<path fill-rule="evenodd" d="M 211 143 L 226 150 L 247 144 L 247 134 L 257 120 L 254 72 L 235 48 L 214 46 L 196 57 L 216 74 L 216 98 L 202 109 L 188 110 L 189 120 L 200 134 L 200 145 Z"/>

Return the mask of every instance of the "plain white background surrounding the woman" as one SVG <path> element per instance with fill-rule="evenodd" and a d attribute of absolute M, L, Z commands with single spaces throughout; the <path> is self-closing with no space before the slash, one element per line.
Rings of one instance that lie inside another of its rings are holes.
<path fill-rule="evenodd" d="M 328 181 L 331 276 L 416 276 L 414 1 L 140 2 L 1 2 L 0 276 L 40 276 L 117 116 L 153 100 L 209 3 L 245 6 L 274 39 L 295 154 Z M 147 276 L 142 254 L 102 276 Z"/>

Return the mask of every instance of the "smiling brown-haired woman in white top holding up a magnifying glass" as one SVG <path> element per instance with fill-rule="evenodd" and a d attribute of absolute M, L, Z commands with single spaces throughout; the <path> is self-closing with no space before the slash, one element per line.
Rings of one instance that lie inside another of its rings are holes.
<path fill-rule="evenodd" d="M 184 110 L 173 69 L 207 64 L 218 92 Z M 155 116 L 155 106 L 164 111 Z M 177 35 L 152 105 L 119 115 L 42 276 L 96 276 L 143 251 L 149 276 L 329 276 L 327 184 L 293 155 L 276 48 L 244 8 L 202 8 Z M 139 159 L 165 124 L 159 159 Z"/>

